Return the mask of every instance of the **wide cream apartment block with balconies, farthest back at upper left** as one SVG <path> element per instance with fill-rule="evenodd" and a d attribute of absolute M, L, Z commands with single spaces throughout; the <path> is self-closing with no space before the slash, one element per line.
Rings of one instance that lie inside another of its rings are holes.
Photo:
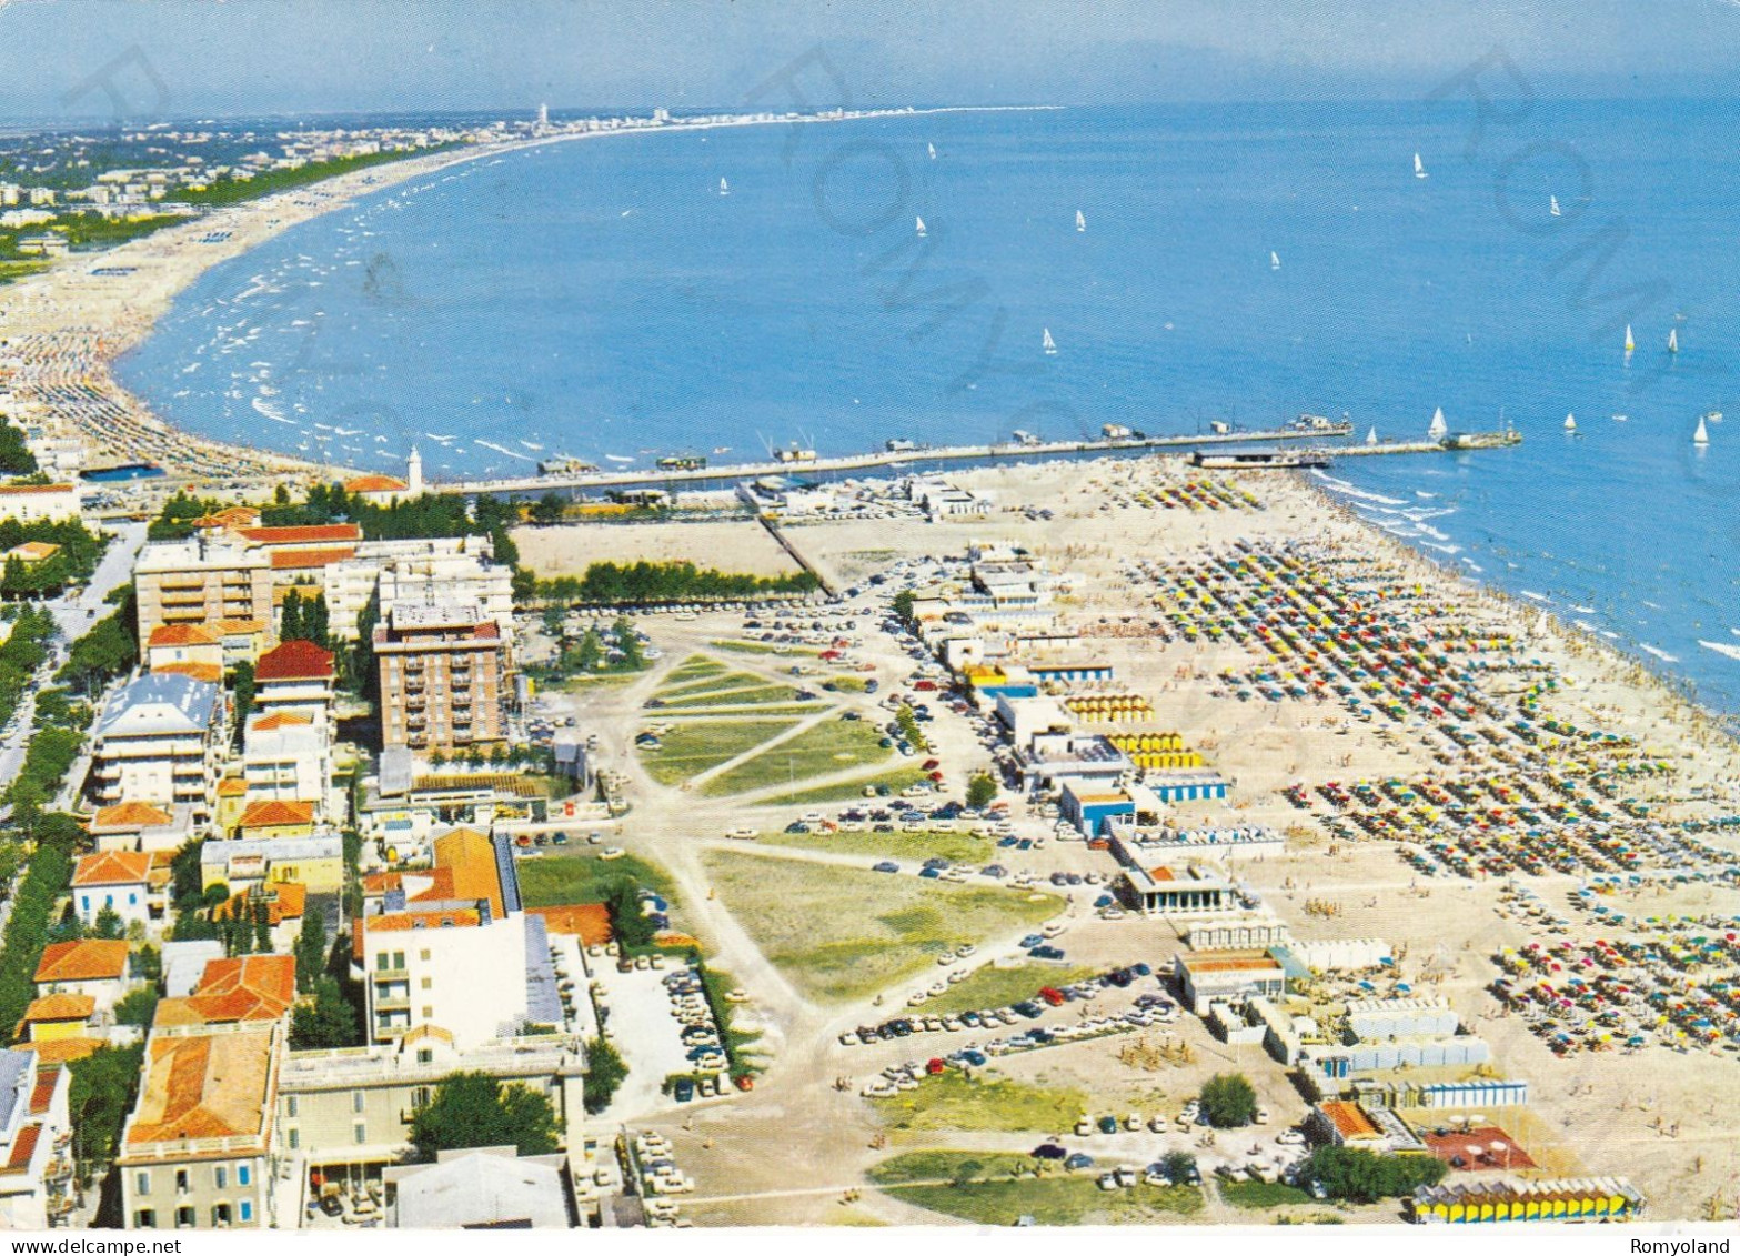
<path fill-rule="evenodd" d="M 134 565 L 139 640 L 164 625 L 271 623 L 271 560 L 224 534 L 153 541 Z"/>

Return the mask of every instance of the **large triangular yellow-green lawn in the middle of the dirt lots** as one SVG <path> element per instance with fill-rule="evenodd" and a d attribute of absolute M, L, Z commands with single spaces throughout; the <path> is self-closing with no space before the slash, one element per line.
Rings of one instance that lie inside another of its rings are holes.
<path fill-rule="evenodd" d="M 969 889 L 752 852 L 706 851 L 703 859 L 762 953 L 823 1002 L 861 999 L 927 971 L 945 950 L 1039 924 L 1063 906 L 1054 894 Z"/>

